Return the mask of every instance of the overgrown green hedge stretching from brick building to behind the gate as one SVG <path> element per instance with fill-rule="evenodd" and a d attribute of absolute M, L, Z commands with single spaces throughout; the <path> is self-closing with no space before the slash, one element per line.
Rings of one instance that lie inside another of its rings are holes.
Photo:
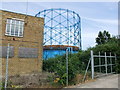
<path fill-rule="evenodd" d="M 102 33 L 102 32 L 101 32 Z M 104 31 L 104 33 L 108 33 Z M 108 36 L 109 33 L 108 33 Z M 98 43 L 98 40 L 96 40 Z M 120 43 L 119 39 L 116 37 L 109 37 L 104 43 L 98 43 L 95 47 L 88 48 L 85 51 L 80 50 L 76 54 L 69 54 L 69 61 L 68 61 L 68 68 L 69 68 L 69 84 L 75 84 L 73 79 L 76 77 L 77 74 L 84 74 L 85 69 L 88 64 L 88 60 L 90 59 L 90 51 L 93 50 L 94 54 L 98 54 L 100 51 L 101 53 L 104 52 L 112 52 L 117 54 L 117 66 L 116 72 L 120 73 Z M 59 85 L 65 86 L 66 85 L 66 56 L 56 56 L 55 58 L 50 58 L 48 60 L 44 60 L 43 62 L 43 70 L 48 72 L 54 72 L 57 79 L 54 80 L 55 83 Z"/>

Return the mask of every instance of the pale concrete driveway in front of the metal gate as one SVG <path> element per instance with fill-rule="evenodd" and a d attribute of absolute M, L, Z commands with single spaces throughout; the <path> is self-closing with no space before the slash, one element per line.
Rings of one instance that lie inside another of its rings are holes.
<path fill-rule="evenodd" d="M 72 88 L 118 88 L 118 74 L 97 78 L 92 82 L 78 84 Z"/>

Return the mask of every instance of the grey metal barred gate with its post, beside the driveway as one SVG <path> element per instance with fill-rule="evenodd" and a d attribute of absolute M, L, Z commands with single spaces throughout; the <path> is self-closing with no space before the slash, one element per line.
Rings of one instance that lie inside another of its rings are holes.
<path fill-rule="evenodd" d="M 91 71 L 92 79 L 103 75 L 115 73 L 116 54 L 111 52 L 99 52 L 94 55 L 91 50 Z"/>

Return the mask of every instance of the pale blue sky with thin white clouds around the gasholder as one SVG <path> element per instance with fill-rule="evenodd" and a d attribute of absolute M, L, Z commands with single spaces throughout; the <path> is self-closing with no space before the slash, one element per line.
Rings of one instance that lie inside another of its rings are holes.
<path fill-rule="evenodd" d="M 0 3 L 1 5 L 1 3 Z M 117 2 L 2 2 L 0 9 L 35 16 L 39 11 L 64 8 L 75 11 L 81 17 L 82 49 L 96 45 L 99 31 L 118 35 Z"/>

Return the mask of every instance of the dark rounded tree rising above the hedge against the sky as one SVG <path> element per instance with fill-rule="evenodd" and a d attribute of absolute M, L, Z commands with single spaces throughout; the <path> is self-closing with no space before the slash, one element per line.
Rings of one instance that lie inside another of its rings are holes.
<path fill-rule="evenodd" d="M 98 45 L 100 44 L 104 44 L 106 42 L 108 42 L 111 39 L 111 35 L 109 34 L 108 31 L 104 30 L 103 32 L 99 32 L 98 33 L 98 37 L 96 38 L 96 43 Z"/>

